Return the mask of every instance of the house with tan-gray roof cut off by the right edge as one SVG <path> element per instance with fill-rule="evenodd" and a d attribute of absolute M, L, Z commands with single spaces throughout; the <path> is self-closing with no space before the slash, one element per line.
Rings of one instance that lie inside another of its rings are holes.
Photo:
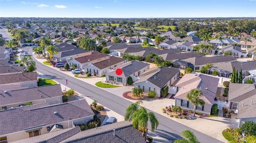
<path fill-rule="evenodd" d="M 238 127 L 246 121 L 256 123 L 256 89 L 253 84 L 230 83 L 229 110 L 237 114 Z"/>

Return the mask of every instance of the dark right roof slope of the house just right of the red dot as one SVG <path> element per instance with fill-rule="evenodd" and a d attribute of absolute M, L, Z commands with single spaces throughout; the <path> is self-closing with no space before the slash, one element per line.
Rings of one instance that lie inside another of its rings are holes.
<path fill-rule="evenodd" d="M 153 83 L 159 88 L 164 87 L 166 83 L 170 81 L 174 77 L 174 75 L 176 75 L 180 71 L 179 69 L 172 67 L 160 67 L 159 69 L 160 71 L 158 71 L 148 79 L 149 82 Z"/>

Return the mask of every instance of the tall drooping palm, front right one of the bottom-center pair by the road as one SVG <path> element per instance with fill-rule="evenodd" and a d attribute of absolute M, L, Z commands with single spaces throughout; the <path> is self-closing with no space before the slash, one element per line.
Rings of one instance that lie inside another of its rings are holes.
<path fill-rule="evenodd" d="M 159 123 L 153 112 L 147 112 L 145 107 L 140 107 L 133 113 L 132 126 L 142 131 L 142 136 L 145 137 L 145 140 L 148 132 L 148 122 L 150 122 L 151 131 L 154 132 Z"/>

